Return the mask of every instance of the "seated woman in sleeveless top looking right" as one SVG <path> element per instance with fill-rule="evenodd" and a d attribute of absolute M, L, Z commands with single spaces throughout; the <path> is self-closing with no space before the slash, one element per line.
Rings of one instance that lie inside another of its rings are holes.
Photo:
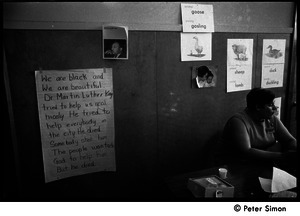
<path fill-rule="evenodd" d="M 286 171 L 296 167 L 297 141 L 274 115 L 274 98 L 270 90 L 254 88 L 247 95 L 247 107 L 228 120 L 223 131 L 227 162 L 276 166 Z"/>

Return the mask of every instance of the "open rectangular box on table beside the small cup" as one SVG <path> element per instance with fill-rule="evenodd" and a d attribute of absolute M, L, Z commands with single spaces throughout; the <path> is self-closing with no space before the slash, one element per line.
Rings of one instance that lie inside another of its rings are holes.
<path fill-rule="evenodd" d="M 234 187 L 216 175 L 190 178 L 188 189 L 195 197 L 233 197 Z"/>

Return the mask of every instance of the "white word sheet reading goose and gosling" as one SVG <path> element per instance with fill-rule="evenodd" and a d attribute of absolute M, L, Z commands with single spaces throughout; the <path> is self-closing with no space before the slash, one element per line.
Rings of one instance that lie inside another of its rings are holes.
<path fill-rule="evenodd" d="M 181 4 L 183 32 L 214 32 L 213 5 Z"/>

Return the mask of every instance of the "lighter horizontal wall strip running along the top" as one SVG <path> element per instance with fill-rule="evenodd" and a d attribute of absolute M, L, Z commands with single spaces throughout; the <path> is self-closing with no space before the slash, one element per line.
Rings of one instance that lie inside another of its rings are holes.
<path fill-rule="evenodd" d="M 182 31 L 180 2 L 4 3 L 4 29 Z M 201 2 L 212 4 L 215 32 L 292 33 L 293 2 Z"/>

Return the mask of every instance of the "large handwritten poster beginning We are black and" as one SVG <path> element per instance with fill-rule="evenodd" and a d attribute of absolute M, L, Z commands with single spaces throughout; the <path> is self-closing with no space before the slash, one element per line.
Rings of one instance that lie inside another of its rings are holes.
<path fill-rule="evenodd" d="M 112 69 L 35 73 L 45 181 L 115 171 Z"/>

